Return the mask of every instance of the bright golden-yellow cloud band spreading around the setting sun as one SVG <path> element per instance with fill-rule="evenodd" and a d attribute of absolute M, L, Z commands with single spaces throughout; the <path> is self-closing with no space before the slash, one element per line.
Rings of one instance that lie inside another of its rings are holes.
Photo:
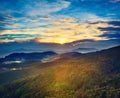
<path fill-rule="evenodd" d="M 4 30 L 1 31 L 0 34 L 1 35 L 9 34 L 9 36 L 11 33 L 21 35 L 26 34 L 25 35 L 26 38 L 28 37 L 31 38 L 30 34 L 32 34 L 32 39 L 35 39 L 36 42 L 69 43 L 76 40 L 85 39 L 108 40 L 109 39 L 108 37 L 101 35 L 106 33 L 105 29 L 107 30 L 107 28 L 110 28 L 109 26 L 113 26 L 107 22 L 79 24 L 76 22 L 75 19 L 71 18 L 60 18 L 58 22 L 60 22 L 60 25 L 53 24 L 46 28 L 35 28 L 28 30 Z M 7 36 L 5 37 L 8 38 Z M 13 36 L 10 37 L 13 38 Z M 20 39 L 20 37 L 17 36 L 17 39 L 15 39 L 15 41 L 18 40 L 18 38 Z M 21 41 L 22 40 L 23 39 L 21 38 Z"/>

